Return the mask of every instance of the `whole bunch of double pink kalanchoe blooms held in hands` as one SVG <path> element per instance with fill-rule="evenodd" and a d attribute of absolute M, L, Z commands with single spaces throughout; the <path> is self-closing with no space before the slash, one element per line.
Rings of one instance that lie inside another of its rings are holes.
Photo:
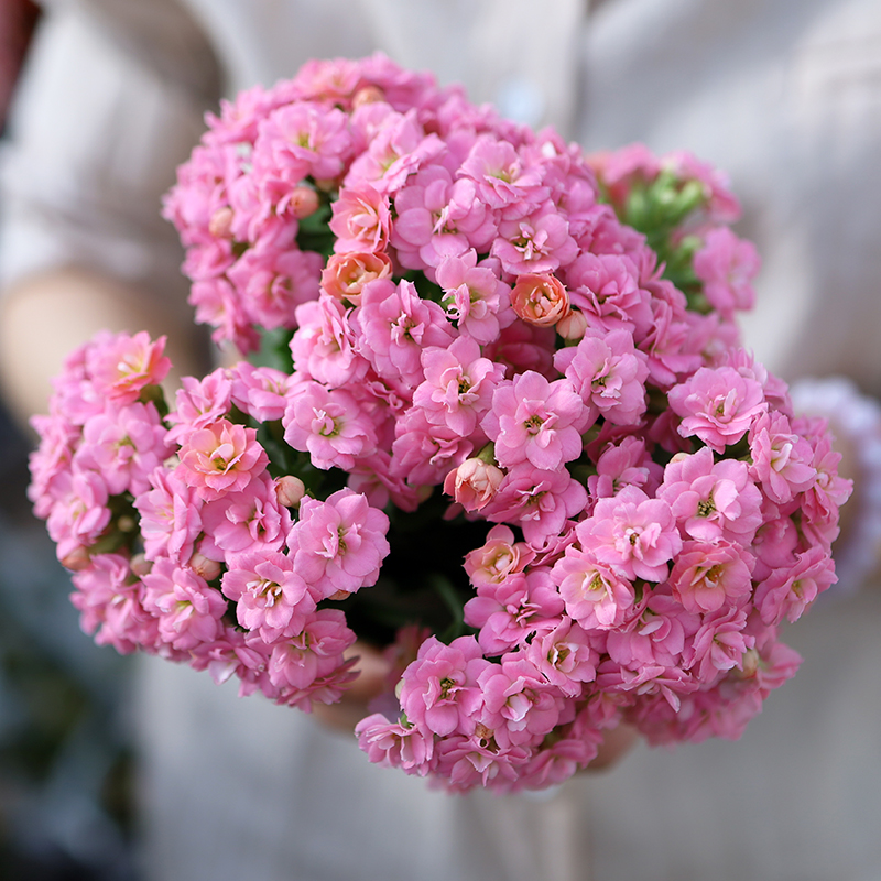
<path fill-rule="evenodd" d="M 387 645 L 361 747 L 457 791 L 557 783 L 621 721 L 738 737 L 849 485 L 737 346 L 721 176 L 382 56 L 208 122 L 166 214 L 197 318 L 260 358 L 171 411 L 162 340 L 68 359 L 31 492 L 85 630 L 306 710 Z"/>

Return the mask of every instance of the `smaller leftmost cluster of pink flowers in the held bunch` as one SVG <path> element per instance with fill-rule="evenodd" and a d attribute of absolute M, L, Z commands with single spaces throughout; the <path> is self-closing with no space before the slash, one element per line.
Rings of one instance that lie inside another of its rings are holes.
<path fill-rule="evenodd" d="M 244 423 L 284 411 L 279 371 L 242 362 L 186 378 L 163 417 L 162 349 L 143 334 L 99 337 L 35 420 L 31 494 L 75 570 L 83 627 L 123 653 L 236 674 L 244 694 L 304 709 L 337 700 L 356 638 L 319 603 L 374 584 L 388 518 L 350 489 L 303 498 L 296 478 L 271 477 Z"/>

